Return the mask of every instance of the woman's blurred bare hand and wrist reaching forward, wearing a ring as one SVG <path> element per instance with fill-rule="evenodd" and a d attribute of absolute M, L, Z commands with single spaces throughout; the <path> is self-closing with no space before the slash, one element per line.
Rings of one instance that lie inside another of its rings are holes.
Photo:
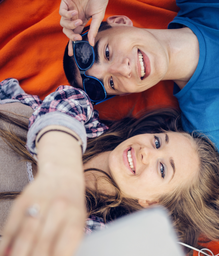
<path fill-rule="evenodd" d="M 1 256 L 72 256 L 83 236 L 81 147 L 71 135 L 51 131 L 43 135 L 38 150 L 37 177 L 14 206 Z M 28 213 L 34 205 L 35 215 Z"/>

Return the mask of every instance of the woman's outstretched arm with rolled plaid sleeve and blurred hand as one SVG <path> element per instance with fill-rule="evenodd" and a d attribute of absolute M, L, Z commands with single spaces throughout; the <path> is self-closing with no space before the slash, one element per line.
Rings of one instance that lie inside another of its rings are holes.
<path fill-rule="evenodd" d="M 108 127 L 100 122 L 98 112 L 80 89 L 60 86 L 41 101 L 26 94 L 16 79 L 6 79 L 0 86 L 4 92 L 1 104 L 21 102 L 35 110 L 27 148 L 39 161 L 34 183 L 15 204 L 0 256 L 9 255 L 9 250 L 13 250 L 10 256 L 72 255 L 85 218 L 82 148 L 85 151 L 87 137 L 99 136 Z M 48 130 L 61 131 L 45 133 Z M 31 206 L 35 212 L 40 207 L 37 218 L 27 216 Z"/>

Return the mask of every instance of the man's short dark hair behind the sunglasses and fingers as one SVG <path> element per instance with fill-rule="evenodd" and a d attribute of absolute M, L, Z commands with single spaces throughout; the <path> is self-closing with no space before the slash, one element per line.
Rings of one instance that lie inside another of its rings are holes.
<path fill-rule="evenodd" d="M 111 26 L 107 22 L 101 22 L 102 26 L 99 28 L 98 32 L 107 30 Z M 90 26 L 87 26 L 83 29 L 82 33 L 88 30 Z M 77 81 L 75 79 L 75 73 L 77 70 L 77 65 L 74 59 L 74 56 L 68 56 L 68 44 L 65 47 L 64 57 L 63 57 L 63 68 L 65 71 L 65 76 L 68 79 L 68 82 L 71 86 L 78 88 Z"/>

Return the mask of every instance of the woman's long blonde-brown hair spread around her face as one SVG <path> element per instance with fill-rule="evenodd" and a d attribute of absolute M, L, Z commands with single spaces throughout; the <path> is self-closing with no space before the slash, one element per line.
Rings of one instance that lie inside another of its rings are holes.
<path fill-rule="evenodd" d="M 20 126 L 20 116 L 8 118 L 4 111 L 1 111 L 0 119 L 18 125 L 22 129 L 28 129 L 25 122 L 22 123 L 22 127 Z M 120 121 L 108 121 L 107 125 L 110 127 L 107 132 L 99 137 L 88 139 L 87 150 L 83 155 L 84 163 L 101 152 L 113 150 L 124 140 L 138 134 L 171 131 L 190 137 L 200 159 L 198 176 L 188 186 L 179 186 L 174 191 L 161 196 L 158 201 L 160 205 L 169 210 L 170 218 L 181 242 L 200 248 L 197 244 L 200 235 L 208 239 L 219 240 L 219 155 L 213 143 L 201 134 L 185 133 L 179 112 L 172 109 L 153 110 L 138 119 L 127 117 Z M 9 133 L 3 129 L 0 129 L 0 136 L 19 155 L 22 155 L 24 160 L 35 162 L 25 148 L 26 138 L 17 137 L 13 132 Z M 85 172 L 90 170 L 87 169 Z M 89 214 L 108 221 L 142 209 L 137 200 L 122 197 L 118 185 L 110 176 L 102 170 L 98 171 L 102 172 L 104 178 L 114 187 L 116 194 L 109 196 L 86 188 L 85 197 Z M 17 194 L 13 191 L 0 193 L 0 199 L 14 198 Z M 185 251 L 188 253 L 190 249 L 185 249 Z"/>

